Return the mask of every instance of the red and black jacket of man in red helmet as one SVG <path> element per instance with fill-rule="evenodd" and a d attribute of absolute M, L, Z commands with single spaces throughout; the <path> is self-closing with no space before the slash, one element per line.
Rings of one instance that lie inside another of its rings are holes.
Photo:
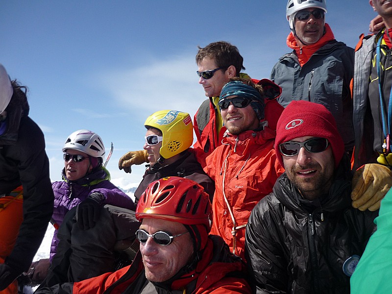
<path fill-rule="evenodd" d="M 230 254 L 227 245 L 217 236 L 209 236 L 200 261 L 171 284 L 154 283 L 158 293 L 185 289 L 187 294 L 250 294 L 245 263 Z M 144 288 L 146 276 L 140 251 L 132 265 L 113 273 L 76 283 L 64 283 L 38 289 L 36 294 L 138 294 Z M 169 288 L 169 289 L 168 289 Z"/>

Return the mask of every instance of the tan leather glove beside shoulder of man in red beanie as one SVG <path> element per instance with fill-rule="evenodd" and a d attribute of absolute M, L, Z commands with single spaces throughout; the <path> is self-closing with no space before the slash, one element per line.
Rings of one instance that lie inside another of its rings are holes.
<path fill-rule="evenodd" d="M 392 186 L 392 172 L 380 164 L 366 164 L 354 173 L 351 185 L 352 207 L 375 211 Z"/>

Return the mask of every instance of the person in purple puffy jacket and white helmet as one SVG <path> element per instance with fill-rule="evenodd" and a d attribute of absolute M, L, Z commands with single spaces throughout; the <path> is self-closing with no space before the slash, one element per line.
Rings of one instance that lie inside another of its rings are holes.
<path fill-rule="evenodd" d="M 63 222 L 66 213 L 76 207 L 76 220 L 80 228 L 94 227 L 99 219 L 100 207 L 111 204 L 135 210 L 132 199 L 110 182 L 110 173 L 103 166 L 105 147 L 98 134 L 89 130 L 73 132 L 63 147 L 63 181 L 53 182 L 54 209 L 51 219 L 55 228 Z M 58 244 L 54 231 L 50 262 Z M 41 259 L 32 264 L 33 280 L 45 278 L 49 260 Z"/>

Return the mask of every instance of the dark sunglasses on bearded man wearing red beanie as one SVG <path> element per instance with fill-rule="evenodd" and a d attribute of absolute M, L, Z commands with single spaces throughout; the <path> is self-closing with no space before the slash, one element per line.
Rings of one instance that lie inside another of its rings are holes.
<path fill-rule="evenodd" d="M 279 145 L 280 153 L 285 156 L 298 154 L 301 147 L 312 153 L 319 153 L 328 147 L 328 140 L 325 138 L 312 138 L 305 142 L 285 142 Z"/>

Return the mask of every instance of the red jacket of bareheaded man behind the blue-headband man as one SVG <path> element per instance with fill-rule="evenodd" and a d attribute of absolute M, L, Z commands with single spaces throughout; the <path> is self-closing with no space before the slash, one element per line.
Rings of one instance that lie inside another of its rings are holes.
<path fill-rule="evenodd" d="M 276 130 L 276 123 L 284 109 L 276 100 L 282 93 L 282 89 L 269 79 L 252 79 L 252 81 L 263 86 L 266 96 L 264 108 L 265 118 L 263 121 L 268 121 L 270 129 Z M 205 158 L 221 145 L 223 134 L 226 130 L 223 126 L 220 134 L 217 134 L 216 118 L 218 115 L 220 116 L 221 113 L 212 102 L 212 97 L 210 97 L 204 100 L 194 117 L 193 125 L 196 134 L 196 143 L 193 147 L 197 161 L 203 167 L 205 166 Z"/>

